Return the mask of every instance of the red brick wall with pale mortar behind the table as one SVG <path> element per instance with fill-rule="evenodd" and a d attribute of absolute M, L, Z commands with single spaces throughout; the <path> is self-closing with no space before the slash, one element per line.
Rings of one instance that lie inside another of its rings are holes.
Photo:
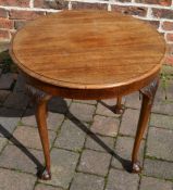
<path fill-rule="evenodd" d="M 164 35 L 165 63 L 173 65 L 173 0 L 0 0 L 0 41 L 10 41 L 28 20 L 62 9 L 104 9 L 149 22 Z"/>

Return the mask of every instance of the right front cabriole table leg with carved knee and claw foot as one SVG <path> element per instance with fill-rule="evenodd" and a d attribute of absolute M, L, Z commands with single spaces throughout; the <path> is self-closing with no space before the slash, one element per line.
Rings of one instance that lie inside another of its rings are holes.
<path fill-rule="evenodd" d="M 158 88 L 159 78 L 156 78 L 151 84 L 140 90 L 143 94 L 141 110 L 136 131 L 136 138 L 134 142 L 133 153 L 132 153 L 132 172 L 140 173 L 141 167 L 138 162 L 138 150 L 143 139 L 143 135 L 147 128 L 148 119 L 150 116 L 151 106 L 153 103 L 155 94 Z"/>

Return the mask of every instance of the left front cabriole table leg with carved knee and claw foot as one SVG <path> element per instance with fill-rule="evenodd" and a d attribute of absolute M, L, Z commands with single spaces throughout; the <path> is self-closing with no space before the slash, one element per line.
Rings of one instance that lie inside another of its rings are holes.
<path fill-rule="evenodd" d="M 41 172 L 41 174 L 39 174 L 39 177 L 44 180 L 48 180 L 51 179 L 51 173 L 50 173 L 49 137 L 47 129 L 47 103 L 50 100 L 51 96 L 32 86 L 27 86 L 27 90 L 36 98 L 37 102 L 36 119 L 46 162 L 45 170 Z"/>

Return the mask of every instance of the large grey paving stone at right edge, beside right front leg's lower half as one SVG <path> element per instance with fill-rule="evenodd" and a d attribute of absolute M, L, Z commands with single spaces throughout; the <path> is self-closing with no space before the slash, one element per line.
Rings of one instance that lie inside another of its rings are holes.
<path fill-rule="evenodd" d="M 150 127 L 147 155 L 173 161 L 173 130 Z"/>

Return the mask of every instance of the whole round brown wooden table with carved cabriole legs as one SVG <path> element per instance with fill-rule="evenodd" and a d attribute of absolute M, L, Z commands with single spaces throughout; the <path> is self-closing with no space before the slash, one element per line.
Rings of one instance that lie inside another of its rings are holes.
<path fill-rule="evenodd" d="M 165 42 L 152 26 L 114 12 L 63 11 L 42 16 L 18 30 L 10 53 L 27 89 L 37 98 L 36 118 L 46 160 L 42 179 L 51 178 L 46 116 L 52 96 L 118 98 L 118 112 L 121 97 L 139 90 L 143 103 L 132 170 L 140 172 L 137 154 L 165 53 Z"/>

